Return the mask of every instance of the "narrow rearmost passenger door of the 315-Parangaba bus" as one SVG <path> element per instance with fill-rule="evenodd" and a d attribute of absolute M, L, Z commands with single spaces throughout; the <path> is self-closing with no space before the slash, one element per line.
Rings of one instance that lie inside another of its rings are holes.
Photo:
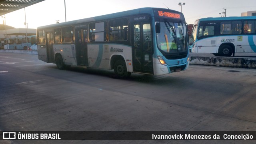
<path fill-rule="evenodd" d="M 46 33 L 46 52 L 48 62 L 55 62 L 53 52 L 53 35 L 52 32 Z"/>

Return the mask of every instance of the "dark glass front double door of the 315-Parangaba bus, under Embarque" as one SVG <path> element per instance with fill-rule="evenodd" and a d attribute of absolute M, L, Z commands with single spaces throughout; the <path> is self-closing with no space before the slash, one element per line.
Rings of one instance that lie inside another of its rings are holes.
<path fill-rule="evenodd" d="M 152 29 L 149 23 L 132 25 L 132 63 L 133 71 L 154 74 Z"/>

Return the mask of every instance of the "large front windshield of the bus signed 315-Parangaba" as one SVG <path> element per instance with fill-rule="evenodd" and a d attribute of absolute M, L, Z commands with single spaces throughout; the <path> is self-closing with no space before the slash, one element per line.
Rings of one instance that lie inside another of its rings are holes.
<path fill-rule="evenodd" d="M 160 33 L 157 34 L 158 48 L 166 53 L 187 51 L 186 24 L 182 22 L 160 22 Z"/>

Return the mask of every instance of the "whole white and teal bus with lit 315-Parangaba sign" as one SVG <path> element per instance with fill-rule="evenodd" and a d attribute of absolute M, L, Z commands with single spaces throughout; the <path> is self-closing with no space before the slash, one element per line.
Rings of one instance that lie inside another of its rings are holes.
<path fill-rule="evenodd" d="M 37 28 L 38 58 L 66 66 L 162 75 L 189 65 L 182 13 L 139 8 Z"/>

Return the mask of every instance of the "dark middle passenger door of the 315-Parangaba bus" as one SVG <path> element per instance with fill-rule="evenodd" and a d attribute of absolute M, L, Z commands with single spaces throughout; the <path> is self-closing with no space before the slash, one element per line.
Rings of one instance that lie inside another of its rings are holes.
<path fill-rule="evenodd" d="M 76 59 L 77 65 L 88 66 L 88 56 L 87 56 L 87 29 L 78 28 L 75 31 L 76 40 Z"/>

